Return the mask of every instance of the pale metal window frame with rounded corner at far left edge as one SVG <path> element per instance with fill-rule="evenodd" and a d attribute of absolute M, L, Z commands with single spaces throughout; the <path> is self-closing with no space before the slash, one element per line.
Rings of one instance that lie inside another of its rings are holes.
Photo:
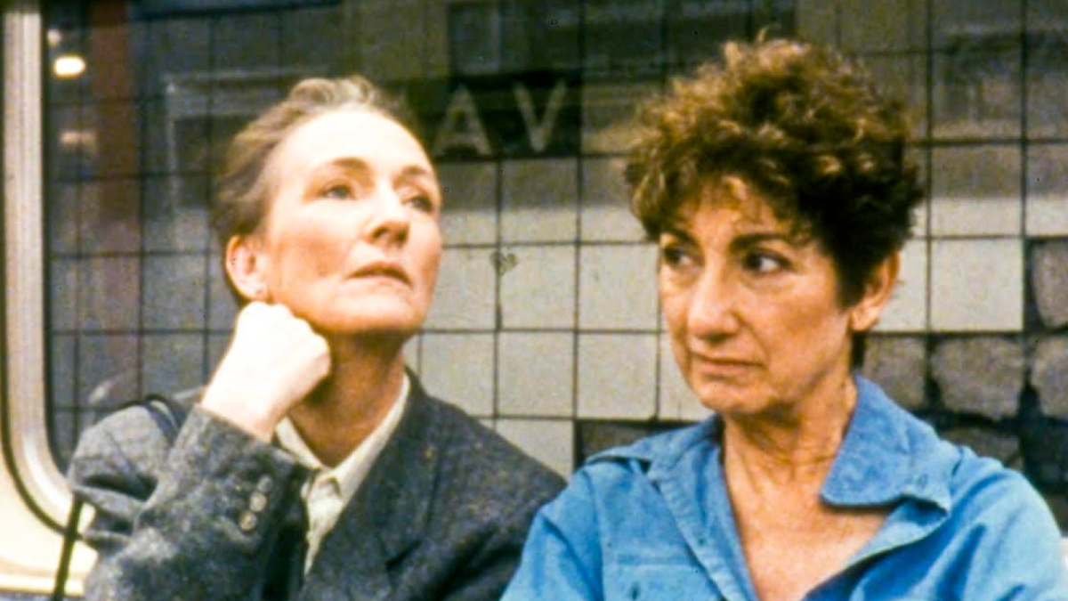
<path fill-rule="evenodd" d="M 40 0 L 3 4 L 3 367 L 0 589 L 51 590 L 73 498 L 48 444 L 45 384 L 43 27 Z M 90 514 L 92 512 L 89 512 Z M 85 521 L 90 519 L 87 514 Z M 85 523 L 84 521 L 82 522 Z M 76 550 L 68 590 L 92 565 Z"/>

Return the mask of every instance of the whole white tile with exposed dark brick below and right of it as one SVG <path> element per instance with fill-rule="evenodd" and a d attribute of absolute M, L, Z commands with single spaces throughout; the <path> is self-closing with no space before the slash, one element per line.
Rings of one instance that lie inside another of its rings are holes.
<path fill-rule="evenodd" d="M 940 240 L 931 244 L 931 327 L 943 332 L 1022 328 L 1020 240 Z"/>

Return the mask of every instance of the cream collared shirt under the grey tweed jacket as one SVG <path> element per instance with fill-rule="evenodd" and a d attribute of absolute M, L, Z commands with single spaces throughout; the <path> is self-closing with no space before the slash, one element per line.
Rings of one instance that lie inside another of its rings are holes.
<path fill-rule="evenodd" d="M 400 396 L 382 422 L 333 468 L 327 467 L 315 457 L 288 417 L 283 418 L 274 429 L 282 448 L 295 454 L 298 461 L 313 472 L 312 477 L 300 489 L 300 496 L 308 510 L 308 554 L 304 556 L 304 573 L 311 569 L 323 538 L 337 522 L 342 509 L 363 483 L 371 465 L 400 422 L 410 386 L 408 375 L 405 374 L 404 383 L 400 385 Z"/>

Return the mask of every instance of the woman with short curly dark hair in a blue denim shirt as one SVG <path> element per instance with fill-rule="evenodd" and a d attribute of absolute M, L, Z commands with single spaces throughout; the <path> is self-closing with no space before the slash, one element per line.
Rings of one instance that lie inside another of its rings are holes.
<path fill-rule="evenodd" d="M 1068 599 L 1026 480 L 855 373 L 922 198 L 902 108 L 830 49 L 724 55 L 646 107 L 627 169 L 716 415 L 594 457 L 505 599 Z"/>

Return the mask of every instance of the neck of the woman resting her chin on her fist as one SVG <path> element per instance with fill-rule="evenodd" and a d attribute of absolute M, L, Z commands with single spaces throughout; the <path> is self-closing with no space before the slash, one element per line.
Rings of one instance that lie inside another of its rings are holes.
<path fill-rule="evenodd" d="M 404 384 L 403 342 L 330 339 L 331 372 L 289 419 L 327 466 L 341 463 L 389 414 Z"/>

